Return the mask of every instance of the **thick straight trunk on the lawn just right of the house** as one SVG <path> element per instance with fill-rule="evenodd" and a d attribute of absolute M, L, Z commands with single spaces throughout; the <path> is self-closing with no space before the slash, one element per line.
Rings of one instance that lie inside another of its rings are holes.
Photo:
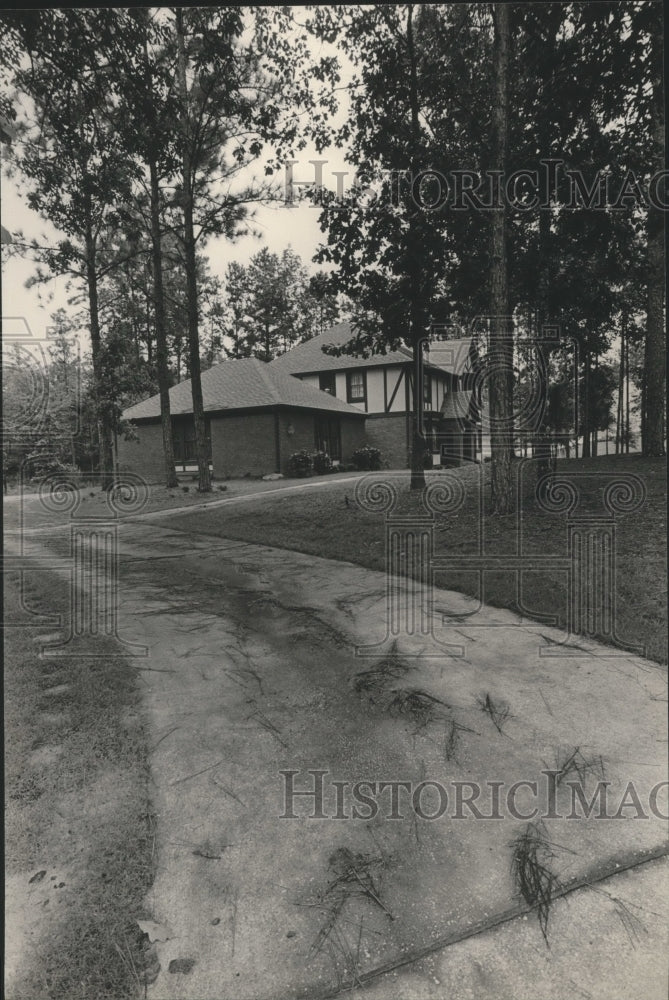
<path fill-rule="evenodd" d="M 493 169 L 506 172 L 508 131 L 509 8 L 496 3 L 494 21 L 495 107 L 493 110 Z M 492 274 L 489 382 L 492 512 L 510 514 L 514 509 L 513 476 L 513 343 L 508 337 L 508 265 L 506 253 L 506 205 L 492 212 Z"/>

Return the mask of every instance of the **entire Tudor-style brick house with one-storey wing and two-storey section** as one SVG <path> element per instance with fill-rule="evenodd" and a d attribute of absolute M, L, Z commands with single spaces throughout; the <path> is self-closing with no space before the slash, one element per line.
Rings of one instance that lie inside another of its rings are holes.
<path fill-rule="evenodd" d="M 215 476 L 288 472 L 288 459 L 306 449 L 349 464 L 364 444 L 384 464 L 408 468 L 413 413 L 413 360 L 404 347 L 369 358 L 326 354 L 328 344 L 353 336 L 339 323 L 266 364 L 257 358 L 224 361 L 202 373 L 202 393 Z M 471 338 L 436 341 L 424 356 L 423 407 L 434 465 L 477 460 L 481 452 L 476 402 L 476 351 Z M 196 469 L 190 380 L 170 389 L 177 471 Z M 149 481 L 165 477 L 160 397 L 123 413 L 139 440 L 117 443 L 120 470 Z"/>

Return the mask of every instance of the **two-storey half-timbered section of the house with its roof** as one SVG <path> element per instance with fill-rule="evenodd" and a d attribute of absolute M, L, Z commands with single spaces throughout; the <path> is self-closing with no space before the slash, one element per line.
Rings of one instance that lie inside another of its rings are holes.
<path fill-rule="evenodd" d="M 270 369 L 346 401 L 365 414 L 367 443 L 381 451 L 391 468 L 408 468 L 413 413 L 413 360 L 404 347 L 369 358 L 326 354 L 353 337 L 339 323 L 270 362 Z M 425 432 L 433 464 L 476 460 L 480 419 L 476 403 L 476 350 L 471 337 L 436 341 L 424 356 Z M 442 457 L 443 454 L 443 457 Z"/>

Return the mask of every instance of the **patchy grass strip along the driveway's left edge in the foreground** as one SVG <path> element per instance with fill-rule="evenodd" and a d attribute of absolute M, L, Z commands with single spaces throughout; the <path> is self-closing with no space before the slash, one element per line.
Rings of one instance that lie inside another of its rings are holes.
<path fill-rule="evenodd" d="M 39 571 L 23 595 L 53 615 L 67 589 Z M 53 629 L 29 624 L 11 572 L 5 620 L 28 623 L 5 630 L 6 995 L 135 998 L 151 964 L 137 918 L 153 879 L 136 672 L 106 640 L 40 659 Z"/>

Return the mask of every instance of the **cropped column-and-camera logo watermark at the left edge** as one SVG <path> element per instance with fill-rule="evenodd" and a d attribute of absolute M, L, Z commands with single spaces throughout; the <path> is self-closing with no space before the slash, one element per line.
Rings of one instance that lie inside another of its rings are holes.
<path fill-rule="evenodd" d="M 25 615 L 24 620 L 6 621 L 5 626 L 48 625 L 57 629 L 42 641 L 41 655 L 50 657 L 109 655 L 108 649 L 96 652 L 95 643 L 81 645 L 79 640 L 86 638 L 111 639 L 125 655 L 145 657 L 146 646 L 128 642 L 119 634 L 119 526 L 122 516 L 143 509 L 149 487 L 140 476 L 122 473 L 104 491 L 102 508 L 93 512 L 90 505 L 83 505 L 84 488 L 90 491 L 97 484 L 99 489 L 101 476 L 81 473 L 73 464 L 67 467 L 55 459 L 59 452 L 68 454 L 81 432 L 80 384 L 75 381 L 68 387 L 71 419 L 64 429 L 56 419 L 61 387 L 52 376 L 53 331 L 37 337 L 20 317 L 4 319 L 3 326 L 3 373 L 6 379 L 11 378 L 13 387 L 10 405 L 3 413 L 3 457 L 6 463 L 8 457 L 19 456 L 18 526 L 6 532 L 9 551 L 4 570 L 18 575 Z M 48 517 L 43 523 L 45 514 Z M 60 536 L 60 544 L 53 550 L 39 544 L 45 531 Z M 63 541 L 66 555 L 60 554 Z M 45 616 L 30 606 L 26 576 L 44 570 L 69 578 L 69 600 L 63 613 Z"/>

